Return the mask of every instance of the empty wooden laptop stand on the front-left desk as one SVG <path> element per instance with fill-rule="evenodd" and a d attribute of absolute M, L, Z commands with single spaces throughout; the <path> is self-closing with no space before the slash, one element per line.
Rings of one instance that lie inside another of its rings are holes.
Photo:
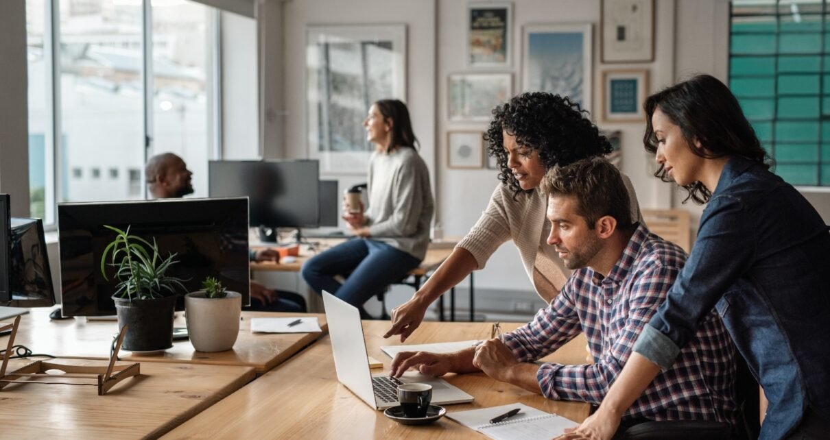
<path fill-rule="evenodd" d="M 18 383 L 21 384 L 65 384 L 65 385 L 97 385 L 98 395 L 106 394 L 113 385 L 125 380 L 128 377 L 139 375 L 139 363 L 129 365 L 115 365 L 115 360 L 118 359 L 118 352 L 121 349 L 121 342 L 124 341 L 124 335 L 127 331 L 127 326 L 121 328 L 118 334 L 118 341 L 115 341 L 115 349 L 110 355 L 110 364 L 107 366 L 86 366 L 86 365 L 64 365 L 46 362 L 45 360 L 36 360 L 29 365 L 23 366 L 17 370 L 6 374 L 6 367 L 9 356 L 12 354 L 12 347 L 14 346 L 14 337 L 17 336 L 17 326 L 20 324 L 20 317 L 14 318 L 14 323 L 0 326 L 0 331 L 12 329 L 12 334 L 8 337 L 8 344 L 6 351 L 3 354 L 2 365 L 0 365 L 0 390 L 7 384 L 17 382 L 21 378 L 32 378 L 34 380 L 25 380 Z M 61 370 L 66 374 L 50 375 L 46 373 L 47 370 Z M 115 374 L 113 372 L 115 371 Z M 86 379 L 87 382 L 58 382 L 61 378 Z"/>

